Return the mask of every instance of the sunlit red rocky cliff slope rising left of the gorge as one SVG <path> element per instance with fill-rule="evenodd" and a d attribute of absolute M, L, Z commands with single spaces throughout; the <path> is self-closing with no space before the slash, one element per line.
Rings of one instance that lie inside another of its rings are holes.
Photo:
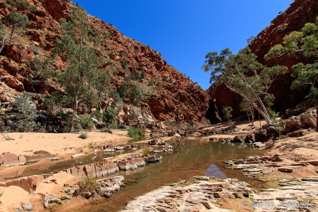
<path fill-rule="evenodd" d="M 28 62 L 32 58 L 49 57 L 49 53 L 55 45 L 55 39 L 59 35 L 59 19 L 68 18 L 73 3 L 67 0 L 28 0 L 36 6 L 36 11 L 28 13 L 31 24 L 27 31 L 19 38 L 7 45 L 1 55 L 0 61 L 0 99 L 2 102 L 13 100 L 18 92 L 28 91 L 34 93 L 38 109 L 42 106 L 43 95 L 60 89 L 54 81 L 45 83 L 40 81 L 36 85 L 30 80 L 31 69 Z M 0 16 L 3 24 L 7 25 L 5 15 L 10 11 L 4 1 L 0 2 Z M 170 122 L 204 122 L 205 112 L 209 106 L 209 95 L 199 85 L 195 85 L 185 75 L 168 65 L 160 53 L 148 46 L 128 37 L 125 37 L 115 27 L 94 17 L 94 24 L 103 31 L 110 33 L 110 38 L 105 44 L 109 62 L 104 64 L 108 69 L 110 65 L 117 68 L 112 74 L 111 90 L 117 91 L 124 77 L 130 72 L 145 72 L 142 80 L 142 88 L 146 92 L 142 109 L 157 120 L 169 120 Z M 121 63 L 128 63 L 128 70 L 124 70 Z M 141 65 L 142 64 L 142 65 Z M 54 64 L 54 68 L 63 71 L 65 64 L 62 61 Z M 166 80 L 162 80 L 165 78 Z M 148 86 L 153 79 L 159 86 Z M 43 94 L 43 95 L 42 95 Z M 105 99 L 104 106 L 110 104 L 110 98 Z M 125 100 L 129 104 L 129 100 Z M 123 111 L 127 115 L 129 111 Z"/>

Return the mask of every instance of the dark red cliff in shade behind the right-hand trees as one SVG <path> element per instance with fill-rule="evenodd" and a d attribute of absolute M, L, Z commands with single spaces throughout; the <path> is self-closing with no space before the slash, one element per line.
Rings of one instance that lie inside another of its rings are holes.
<path fill-rule="evenodd" d="M 291 74 L 291 66 L 302 62 L 304 64 L 313 62 L 311 58 L 303 58 L 301 54 L 295 56 L 284 56 L 277 60 L 272 59 L 266 61 L 264 55 L 276 44 L 280 44 L 285 35 L 292 31 L 299 31 L 304 24 L 314 23 L 318 16 L 318 2 L 315 0 L 295 0 L 290 6 L 280 15 L 278 15 L 269 26 L 261 31 L 256 38 L 248 45 L 252 53 L 258 57 L 258 61 L 267 66 L 276 64 L 285 65 L 289 69 L 289 73 L 280 76 L 280 79 L 274 81 L 269 92 L 275 96 L 273 109 L 276 112 L 283 111 L 287 108 L 296 106 L 305 100 L 308 94 L 308 89 L 290 90 L 289 87 L 293 78 Z M 234 118 L 241 115 L 239 111 L 239 103 L 241 97 L 231 92 L 225 86 L 216 86 L 212 84 L 207 90 L 211 99 L 209 117 L 213 123 L 219 122 L 218 111 L 221 111 L 225 106 L 233 108 L 232 115 Z M 221 114 L 220 114 L 221 115 Z"/>

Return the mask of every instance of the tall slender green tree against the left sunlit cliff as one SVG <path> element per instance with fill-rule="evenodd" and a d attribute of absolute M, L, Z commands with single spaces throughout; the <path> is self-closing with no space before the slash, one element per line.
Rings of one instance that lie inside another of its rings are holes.
<path fill-rule="evenodd" d="M 72 8 L 69 21 L 60 19 L 59 30 L 62 36 L 56 39 L 52 57 L 59 55 L 68 66 L 64 72 L 55 72 L 54 76 L 64 88 L 67 99 L 72 102 L 72 130 L 77 108 L 85 102 L 99 102 L 108 91 L 109 71 L 105 72 L 101 66 L 105 63 L 105 48 L 101 41 L 107 35 L 94 27 L 93 18 L 79 6 Z M 55 100 L 61 104 L 59 98 Z"/>

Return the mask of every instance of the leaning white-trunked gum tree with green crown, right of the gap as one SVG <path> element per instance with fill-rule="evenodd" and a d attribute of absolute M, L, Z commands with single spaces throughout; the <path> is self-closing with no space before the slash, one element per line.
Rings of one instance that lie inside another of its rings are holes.
<path fill-rule="evenodd" d="M 202 69 L 211 75 L 210 83 L 225 84 L 258 110 L 267 123 L 271 123 L 267 110 L 272 104 L 273 95 L 267 91 L 277 75 L 288 71 L 286 67 L 263 66 L 248 47 L 241 49 L 237 55 L 226 48 L 220 54 L 209 52 L 205 58 L 207 60 Z"/>

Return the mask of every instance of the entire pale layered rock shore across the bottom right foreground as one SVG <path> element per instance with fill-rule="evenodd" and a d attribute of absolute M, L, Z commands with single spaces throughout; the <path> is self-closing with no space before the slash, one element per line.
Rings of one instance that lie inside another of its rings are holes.
<path fill-rule="evenodd" d="M 276 179 L 280 188 L 259 193 L 232 178 L 195 176 L 134 198 L 120 212 L 134 211 L 317 211 L 318 177 Z M 232 210 L 232 209 L 235 210 Z"/>

